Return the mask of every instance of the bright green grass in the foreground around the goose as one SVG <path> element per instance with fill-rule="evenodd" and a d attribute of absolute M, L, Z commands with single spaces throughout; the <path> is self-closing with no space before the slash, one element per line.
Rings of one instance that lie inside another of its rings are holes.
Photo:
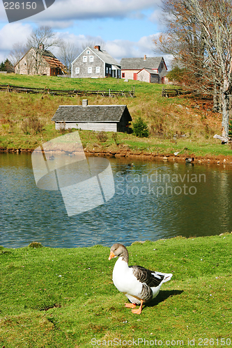
<path fill-rule="evenodd" d="M 145 347 L 155 339 L 162 347 L 168 340 L 231 346 L 231 242 L 225 234 L 128 247 L 130 264 L 173 273 L 139 316 L 124 308 L 112 283 L 107 247 L 1 248 L 0 346 L 84 348 L 115 340 L 132 347 L 133 339 L 151 342 Z"/>

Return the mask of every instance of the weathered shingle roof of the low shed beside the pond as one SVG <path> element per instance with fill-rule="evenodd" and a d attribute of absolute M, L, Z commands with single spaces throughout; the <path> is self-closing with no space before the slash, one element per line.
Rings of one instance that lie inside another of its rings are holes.
<path fill-rule="evenodd" d="M 61 105 L 52 120 L 56 122 L 120 122 L 123 113 L 132 120 L 126 105 Z"/>

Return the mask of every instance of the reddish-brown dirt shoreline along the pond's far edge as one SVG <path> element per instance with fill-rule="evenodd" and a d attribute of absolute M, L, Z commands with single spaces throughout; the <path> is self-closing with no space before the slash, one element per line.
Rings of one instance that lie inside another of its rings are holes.
<path fill-rule="evenodd" d="M 17 153 L 21 154 L 23 152 L 33 152 L 34 149 L 1 149 L 0 153 L 2 152 L 10 152 L 10 153 Z M 124 157 L 127 159 L 143 159 L 143 160 L 150 160 L 150 161 L 182 161 L 185 162 L 186 155 L 173 155 L 173 154 L 167 154 L 167 155 L 155 155 L 150 152 L 132 152 L 132 151 L 105 151 L 102 150 L 100 152 L 97 151 L 85 151 L 84 152 L 86 156 L 97 156 L 97 157 Z M 75 154 L 75 152 L 74 152 Z M 190 156 L 189 156 L 190 157 Z M 191 157 L 194 157 L 192 155 Z M 196 156 L 194 157 L 194 164 L 223 164 L 223 165 L 229 165 L 232 166 L 232 156 L 224 156 L 224 155 L 208 155 L 208 156 Z"/>

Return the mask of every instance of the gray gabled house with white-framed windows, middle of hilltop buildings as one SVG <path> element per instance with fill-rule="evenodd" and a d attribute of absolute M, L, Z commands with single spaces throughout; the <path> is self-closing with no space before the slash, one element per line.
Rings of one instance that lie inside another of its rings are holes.
<path fill-rule="evenodd" d="M 100 46 L 86 47 L 72 62 L 72 77 L 121 77 L 121 65 Z"/>

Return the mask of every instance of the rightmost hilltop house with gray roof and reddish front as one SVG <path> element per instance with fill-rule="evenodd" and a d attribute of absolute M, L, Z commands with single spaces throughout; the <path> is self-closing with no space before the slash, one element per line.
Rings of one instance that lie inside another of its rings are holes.
<path fill-rule="evenodd" d="M 167 74 L 167 65 L 163 57 L 122 58 L 122 79 L 139 80 L 162 84 Z"/>

